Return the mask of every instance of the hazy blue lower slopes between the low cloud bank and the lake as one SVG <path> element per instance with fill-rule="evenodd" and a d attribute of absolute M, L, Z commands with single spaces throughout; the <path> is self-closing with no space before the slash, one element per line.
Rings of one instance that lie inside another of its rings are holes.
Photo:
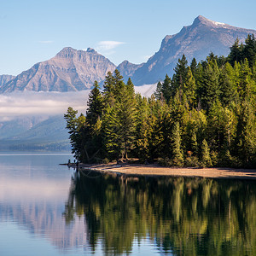
<path fill-rule="evenodd" d="M 63 115 L 23 117 L 0 123 L 0 151 L 68 151 L 70 143 L 65 127 Z"/>

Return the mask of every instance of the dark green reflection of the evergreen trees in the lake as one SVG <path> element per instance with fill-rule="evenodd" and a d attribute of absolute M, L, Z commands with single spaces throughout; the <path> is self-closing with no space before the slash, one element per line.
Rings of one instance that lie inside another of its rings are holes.
<path fill-rule="evenodd" d="M 255 181 L 83 172 L 64 216 L 84 217 L 90 248 L 101 241 L 104 253 L 147 238 L 174 255 L 256 255 L 255 196 Z"/>

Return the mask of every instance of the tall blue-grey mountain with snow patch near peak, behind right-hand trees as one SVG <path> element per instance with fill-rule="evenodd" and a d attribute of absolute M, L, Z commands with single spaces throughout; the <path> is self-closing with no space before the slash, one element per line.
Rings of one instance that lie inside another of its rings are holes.
<path fill-rule="evenodd" d="M 172 76 L 173 68 L 183 54 L 189 63 L 194 57 L 197 61 L 205 60 L 211 51 L 215 55 L 227 56 L 236 38 L 244 41 L 247 34 L 256 35 L 256 31 L 208 20 L 200 15 L 191 26 L 183 26 L 177 34 L 166 36 L 159 51 L 134 71 L 131 80 L 136 85 L 153 84 L 165 79 L 166 73 Z"/>

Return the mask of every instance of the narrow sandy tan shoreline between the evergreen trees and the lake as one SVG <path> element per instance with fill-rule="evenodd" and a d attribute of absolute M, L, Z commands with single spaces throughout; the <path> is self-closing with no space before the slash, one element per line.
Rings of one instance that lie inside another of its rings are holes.
<path fill-rule="evenodd" d="M 76 164 L 67 165 L 76 168 Z M 128 176 L 169 176 L 169 177 L 209 177 L 256 179 L 256 169 L 235 169 L 226 167 L 196 168 L 196 167 L 164 167 L 157 164 L 127 164 L 113 163 L 102 165 L 79 164 L 81 171 L 95 171 Z"/>

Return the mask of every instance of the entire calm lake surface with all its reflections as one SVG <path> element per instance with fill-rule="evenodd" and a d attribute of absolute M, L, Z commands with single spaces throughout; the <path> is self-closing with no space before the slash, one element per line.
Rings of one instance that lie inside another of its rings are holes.
<path fill-rule="evenodd" d="M 256 255 L 256 182 L 113 177 L 0 153 L 0 255 Z"/>

